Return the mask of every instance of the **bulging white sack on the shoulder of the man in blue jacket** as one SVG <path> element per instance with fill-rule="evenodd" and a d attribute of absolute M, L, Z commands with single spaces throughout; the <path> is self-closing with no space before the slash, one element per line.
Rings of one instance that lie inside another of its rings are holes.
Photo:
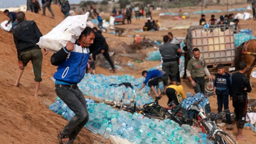
<path fill-rule="evenodd" d="M 86 28 L 88 16 L 89 12 L 84 15 L 65 18 L 59 25 L 42 36 L 37 45 L 56 53 L 62 47 L 65 47 L 68 41 L 75 43 L 81 35 L 81 32 Z"/>

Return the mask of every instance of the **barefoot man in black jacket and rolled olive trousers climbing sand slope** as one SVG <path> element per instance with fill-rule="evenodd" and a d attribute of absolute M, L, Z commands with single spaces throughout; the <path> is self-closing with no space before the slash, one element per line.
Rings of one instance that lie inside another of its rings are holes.
<path fill-rule="evenodd" d="M 43 54 L 40 47 L 37 46 L 36 43 L 39 41 L 42 33 L 38 29 L 35 21 L 26 20 L 24 12 L 17 12 L 16 19 L 18 24 L 13 31 L 13 39 L 17 48 L 20 69 L 14 86 L 19 86 L 20 77 L 24 71 L 24 68 L 27 66 L 28 62 L 31 61 L 36 81 L 36 90 L 34 96 L 37 97 L 40 82 L 42 81 L 41 73 Z M 48 51 L 44 49 L 44 55 L 46 55 L 47 52 Z"/>

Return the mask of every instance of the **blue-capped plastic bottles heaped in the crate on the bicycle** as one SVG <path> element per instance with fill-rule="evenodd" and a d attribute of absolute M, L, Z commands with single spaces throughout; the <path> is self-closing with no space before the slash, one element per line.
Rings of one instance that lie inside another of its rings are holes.
<path fill-rule="evenodd" d="M 183 99 L 181 102 L 181 106 L 185 109 L 188 108 L 189 105 L 195 103 L 196 101 L 200 100 L 201 98 L 204 97 L 203 93 L 196 93 L 194 95 L 191 96 L 191 93 L 188 92 L 187 93 L 187 99 Z M 198 106 L 200 106 L 201 108 L 205 107 L 206 104 L 209 104 L 209 99 L 206 97 L 204 98 L 199 104 Z"/>

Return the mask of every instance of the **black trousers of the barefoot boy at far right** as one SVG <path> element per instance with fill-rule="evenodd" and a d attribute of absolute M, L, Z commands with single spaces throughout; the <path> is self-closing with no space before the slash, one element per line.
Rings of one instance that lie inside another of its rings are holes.
<path fill-rule="evenodd" d="M 244 128 L 248 99 L 247 97 L 233 97 L 232 103 L 237 119 L 236 126 L 242 129 Z"/>

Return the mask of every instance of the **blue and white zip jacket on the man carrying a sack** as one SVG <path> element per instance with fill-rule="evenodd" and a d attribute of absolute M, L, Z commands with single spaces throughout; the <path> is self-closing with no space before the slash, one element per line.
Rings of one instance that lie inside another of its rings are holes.
<path fill-rule="evenodd" d="M 82 48 L 78 41 L 74 44 L 73 51 L 68 52 L 66 47 L 63 47 L 53 54 L 51 63 L 58 66 L 57 72 L 54 74 L 56 84 L 79 83 L 84 77 L 89 54 L 89 48 Z M 58 83 L 58 81 L 65 83 Z"/>

